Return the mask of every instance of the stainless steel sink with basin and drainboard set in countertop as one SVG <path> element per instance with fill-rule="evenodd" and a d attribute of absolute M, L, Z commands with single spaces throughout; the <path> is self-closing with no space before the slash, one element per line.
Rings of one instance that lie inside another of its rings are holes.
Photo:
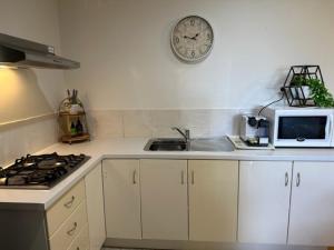
<path fill-rule="evenodd" d="M 190 139 L 188 143 L 179 138 L 154 138 L 146 143 L 144 150 L 230 152 L 234 150 L 234 147 L 226 137 Z"/>

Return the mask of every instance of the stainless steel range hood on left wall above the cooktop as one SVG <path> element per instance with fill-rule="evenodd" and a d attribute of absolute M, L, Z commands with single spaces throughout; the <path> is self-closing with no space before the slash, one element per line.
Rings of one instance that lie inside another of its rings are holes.
<path fill-rule="evenodd" d="M 78 69 L 80 63 L 55 54 L 55 48 L 0 33 L 0 66 Z"/>

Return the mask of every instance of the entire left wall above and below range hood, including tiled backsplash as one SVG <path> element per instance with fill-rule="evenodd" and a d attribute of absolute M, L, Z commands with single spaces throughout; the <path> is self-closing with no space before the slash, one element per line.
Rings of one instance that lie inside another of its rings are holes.
<path fill-rule="evenodd" d="M 60 53 L 57 0 L 2 0 L 0 32 L 52 44 Z M 0 167 L 57 141 L 62 71 L 0 69 Z"/>

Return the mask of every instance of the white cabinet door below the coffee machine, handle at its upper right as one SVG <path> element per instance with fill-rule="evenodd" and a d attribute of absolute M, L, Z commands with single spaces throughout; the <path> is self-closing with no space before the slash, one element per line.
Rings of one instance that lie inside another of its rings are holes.
<path fill-rule="evenodd" d="M 287 240 L 292 180 L 289 161 L 240 161 L 238 241 Z"/>

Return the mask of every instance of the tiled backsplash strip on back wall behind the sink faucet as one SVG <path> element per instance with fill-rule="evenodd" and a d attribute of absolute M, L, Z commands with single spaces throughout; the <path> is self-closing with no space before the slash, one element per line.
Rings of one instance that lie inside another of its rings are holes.
<path fill-rule="evenodd" d="M 90 110 L 92 138 L 176 137 L 171 127 L 190 129 L 191 137 L 237 134 L 239 109 Z"/>

